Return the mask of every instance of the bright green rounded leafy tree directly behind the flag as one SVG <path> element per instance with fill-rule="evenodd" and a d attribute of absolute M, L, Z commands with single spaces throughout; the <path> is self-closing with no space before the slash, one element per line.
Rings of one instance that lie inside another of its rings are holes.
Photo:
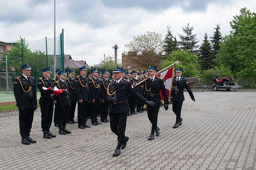
<path fill-rule="evenodd" d="M 170 66 L 177 60 L 179 64 L 177 64 L 175 68 L 183 68 L 183 76 L 193 77 L 199 75 L 198 56 L 188 51 L 177 50 L 171 52 L 162 62 L 161 68 Z"/>

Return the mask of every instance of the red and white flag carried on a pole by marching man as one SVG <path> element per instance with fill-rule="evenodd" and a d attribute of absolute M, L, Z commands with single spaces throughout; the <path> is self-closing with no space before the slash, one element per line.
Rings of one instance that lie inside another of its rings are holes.
<path fill-rule="evenodd" d="M 168 96 L 168 100 L 170 99 L 171 95 L 171 89 L 173 84 L 173 78 L 174 78 L 174 68 L 170 68 L 166 70 L 165 72 L 158 74 L 157 77 L 161 77 L 164 80 L 165 83 L 165 89 Z M 161 100 L 164 100 L 164 96 L 162 91 L 160 91 Z"/>

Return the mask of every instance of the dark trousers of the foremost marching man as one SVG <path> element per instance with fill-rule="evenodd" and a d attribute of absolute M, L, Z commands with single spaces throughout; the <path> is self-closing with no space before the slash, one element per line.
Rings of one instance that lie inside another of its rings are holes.
<path fill-rule="evenodd" d="M 110 128 L 116 134 L 118 141 L 125 140 L 126 120 L 128 113 L 110 113 Z"/>

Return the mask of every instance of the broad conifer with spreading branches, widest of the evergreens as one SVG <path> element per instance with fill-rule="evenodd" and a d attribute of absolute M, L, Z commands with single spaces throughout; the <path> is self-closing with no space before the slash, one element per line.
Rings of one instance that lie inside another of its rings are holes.
<path fill-rule="evenodd" d="M 184 51 L 187 50 L 189 52 L 196 53 L 196 49 L 198 48 L 198 45 L 196 44 L 199 41 L 197 41 L 196 39 L 196 34 L 192 34 L 192 31 L 194 29 L 193 26 L 189 26 L 189 23 L 188 23 L 187 26 L 182 27 L 182 29 L 185 35 L 179 34 L 180 48 Z"/>

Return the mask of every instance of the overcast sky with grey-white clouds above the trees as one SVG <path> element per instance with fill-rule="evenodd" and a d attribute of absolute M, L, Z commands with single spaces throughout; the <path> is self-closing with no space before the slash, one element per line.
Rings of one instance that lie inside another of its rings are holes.
<path fill-rule="evenodd" d="M 0 0 L 0 7 L 0 41 L 54 37 L 54 0 Z M 256 12 L 256 0 L 56 0 L 56 34 L 64 28 L 64 53 L 93 65 L 113 56 L 114 44 L 121 59 L 133 36 L 155 31 L 164 38 L 167 26 L 178 38 L 190 23 L 200 41 L 217 24 L 229 34 L 243 7 Z"/>

